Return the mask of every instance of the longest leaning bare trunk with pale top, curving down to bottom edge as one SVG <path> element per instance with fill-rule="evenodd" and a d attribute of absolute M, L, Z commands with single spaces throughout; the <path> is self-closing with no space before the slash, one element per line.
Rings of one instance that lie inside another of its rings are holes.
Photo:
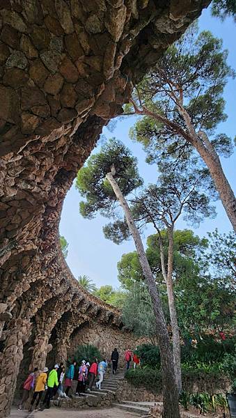
<path fill-rule="evenodd" d="M 157 325 L 157 338 L 159 344 L 159 350 L 161 355 L 162 362 L 162 383 L 163 383 L 163 395 L 164 395 L 164 405 L 163 405 L 163 418 L 180 418 L 180 409 L 179 409 L 179 396 L 178 396 L 178 386 L 175 380 L 175 369 L 173 363 L 173 353 L 171 351 L 170 339 L 168 336 L 168 331 L 166 327 L 166 320 L 164 318 L 164 313 L 162 310 L 162 302 L 159 297 L 159 292 L 157 291 L 157 286 L 155 279 L 150 269 L 148 259 L 145 255 L 145 250 L 143 247 L 143 242 L 139 235 L 139 231 L 134 224 L 134 219 L 129 210 L 127 201 L 125 200 L 120 187 L 116 183 L 116 180 L 113 178 L 111 173 L 107 173 L 107 180 L 113 188 L 113 192 L 116 194 L 120 206 L 125 212 L 125 218 L 129 231 L 132 234 L 134 243 L 136 246 L 137 253 L 139 255 L 139 261 L 143 270 L 143 275 L 145 281 L 148 285 L 150 292 L 150 297 L 152 299 L 153 309 L 155 313 L 155 320 Z"/>

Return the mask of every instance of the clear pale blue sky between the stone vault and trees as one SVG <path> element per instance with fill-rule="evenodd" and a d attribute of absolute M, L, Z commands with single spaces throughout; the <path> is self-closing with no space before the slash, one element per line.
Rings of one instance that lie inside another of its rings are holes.
<path fill-rule="evenodd" d="M 204 10 L 199 19 L 200 30 L 210 30 L 218 38 L 223 39 L 223 47 L 228 49 L 228 63 L 236 70 L 235 56 L 235 38 L 236 30 L 233 19 L 226 19 L 224 22 L 212 17 L 210 9 Z M 226 100 L 226 114 L 228 120 L 221 123 L 218 132 L 224 132 L 230 137 L 235 137 L 235 95 L 236 95 L 236 79 L 229 80 L 226 85 L 224 98 Z M 145 163 L 145 153 L 139 144 L 135 144 L 129 139 L 129 128 L 134 125 L 134 118 L 118 122 L 116 130 L 112 134 L 104 128 L 104 134 L 107 137 L 117 137 L 123 141 L 132 150 L 132 153 L 139 160 L 139 172 L 145 179 L 145 183 L 150 183 L 156 179 L 156 170 L 154 166 Z M 97 150 L 95 150 L 97 152 Z M 231 186 L 235 186 L 235 167 L 236 153 L 229 159 L 221 159 L 223 170 L 226 173 Z M 71 187 L 65 198 L 63 212 L 60 224 L 60 233 L 64 235 L 69 243 L 69 251 L 67 263 L 74 274 L 87 274 L 95 282 L 97 287 L 105 284 L 111 284 L 118 288 L 117 280 L 117 262 L 122 254 L 128 251 L 134 251 L 132 241 L 115 245 L 113 242 L 106 240 L 102 233 L 102 226 L 106 224 L 107 219 L 97 216 L 93 220 L 86 220 L 79 214 L 79 192 L 74 185 Z M 221 202 L 217 202 L 217 217 L 215 219 L 206 219 L 200 224 L 194 232 L 200 236 L 206 235 L 207 231 L 213 231 L 218 228 L 220 232 L 230 231 L 230 222 L 224 212 Z M 184 229 L 188 226 L 185 222 L 178 222 L 178 229 Z M 152 228 L 145 231 L 145 238 L 154 233 Z"/>

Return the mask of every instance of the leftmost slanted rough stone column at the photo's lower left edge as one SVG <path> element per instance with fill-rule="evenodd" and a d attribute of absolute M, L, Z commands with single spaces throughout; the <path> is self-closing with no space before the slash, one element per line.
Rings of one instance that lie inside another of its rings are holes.
<path fill-rule="evenodd" d="M 23 347 L 29 339 L 31 323 L 29 319 L 12 320 L 6 337 L 5 348 L 0 354 L 0 417 L 10 415 L 13 403 L 19 364 L 23 359 Z"/>

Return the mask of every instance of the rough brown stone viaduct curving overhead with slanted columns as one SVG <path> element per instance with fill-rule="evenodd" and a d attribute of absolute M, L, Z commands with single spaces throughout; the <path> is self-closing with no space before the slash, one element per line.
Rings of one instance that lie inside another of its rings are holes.
<path fill-rule="evenodd" d="M 65 359 L 95 327 L 105 346 L 109 333 L 125 344 L 119 312 L 63 259 L 63 199 L 132 86 L 207 3 L 0 0 L 0 417 L 23 357 Z"/>

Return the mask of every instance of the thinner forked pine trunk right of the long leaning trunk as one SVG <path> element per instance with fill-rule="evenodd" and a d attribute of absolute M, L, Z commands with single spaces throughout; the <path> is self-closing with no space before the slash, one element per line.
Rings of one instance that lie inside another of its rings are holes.
<path fill-rule="evenodd" d="M 182 373 L 181 373 L 181 352 L 180 352 L 180 330 L 178 326 L 177 312 L 175 308 L 175 294 L 173 291 L 173 228 L 168 229 L 168 268 L 166 274 L 164 247 L 162 236 L 157 229 L 159 235 L 159 248 L 162 265 L 162 275 L 166 281 L 166 290 L 168 295 L 168 309 L 171 316 L 171 329 L 173 334 L 173 361 L 175 367 L 175 379 L 178 385 L 179 393 L 182 392 Z"/>

